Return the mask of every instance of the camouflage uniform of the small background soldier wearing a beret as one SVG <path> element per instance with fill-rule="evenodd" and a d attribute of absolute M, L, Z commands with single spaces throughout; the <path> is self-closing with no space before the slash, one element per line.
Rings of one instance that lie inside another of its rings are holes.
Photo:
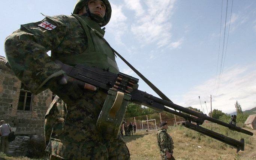
<path fill-rule="evenodd" d="M 168 151 L 171 154 L 173 153 L 172 150 L 174 149 L 174 142 L 165 129 L 161 129 L 157 133 L 157 143 L 163 160 L 165 160 L 166 156 L 165 151 Z M 174 160 L 174 157 L 172 156 L 171 159 Z"/>

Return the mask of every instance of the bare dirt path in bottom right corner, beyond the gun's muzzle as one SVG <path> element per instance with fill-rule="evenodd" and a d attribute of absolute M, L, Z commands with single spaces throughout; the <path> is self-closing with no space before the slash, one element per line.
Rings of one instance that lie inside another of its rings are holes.
<path fill-rule="evenodd" d="M 248 130 L 248 129 L 246 129 Z M 252 144 L 245 147 L 244 151 L 240 151 L 239 160 L 256 160 L 256 130 L 250 130 L 253 132 Z"/>

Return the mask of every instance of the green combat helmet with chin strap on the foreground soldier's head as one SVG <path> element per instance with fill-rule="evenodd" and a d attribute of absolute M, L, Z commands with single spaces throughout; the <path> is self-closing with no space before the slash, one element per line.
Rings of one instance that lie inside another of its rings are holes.
<path fill-rule="evenodd" d="M 108 24 L 110 18 L 111 18 L 111 5 L 109 3 L 108 0 L 102 0 L 103 3 L 105 3 L 106 6 L 106 14 L 105 16 L 102 18 L 98 15 L 95 15 L 93 13 L 90 13 L 90 10 L 88 8 L 88 1 L 89 0 L 78 0 L 74 6 L 74 10 L 73 10 L 73 14 L 78 14 L 79 10 L 82 9 L 82 7 L 86 6 L 86 11 L 87 11 L 87 16 L 89 16 L 91 19 L 93 19 L 96 22 L 101 22 L 102 26 L 105 26 L 106 24 Z"/>

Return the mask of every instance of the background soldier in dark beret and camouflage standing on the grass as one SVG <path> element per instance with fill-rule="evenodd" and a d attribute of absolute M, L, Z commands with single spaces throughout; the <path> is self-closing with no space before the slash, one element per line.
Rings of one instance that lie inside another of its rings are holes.
<path fill-rule="evenodd" d="M 159 146 L 160 155 L 162 160 L 175 160 L 172 156 L 174 143 L 172 141 L 171 136 L 167 133 L 168 125 L 167 122 L 162 122 L 160 124 L 161 129 L 157 133 L 157 144 Z"/>

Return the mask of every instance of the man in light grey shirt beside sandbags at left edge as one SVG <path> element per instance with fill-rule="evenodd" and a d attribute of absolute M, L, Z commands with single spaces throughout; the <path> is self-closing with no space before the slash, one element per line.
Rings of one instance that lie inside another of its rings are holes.
<path fill-rule="evenodd" d="M 8 153 L 9 150 L 9 141 L 8 135 L 12 131 L 10 125 L 5 123 L 4 120 L 0 121 L 0 133 L 1 133 L 1 152 Z"/>

